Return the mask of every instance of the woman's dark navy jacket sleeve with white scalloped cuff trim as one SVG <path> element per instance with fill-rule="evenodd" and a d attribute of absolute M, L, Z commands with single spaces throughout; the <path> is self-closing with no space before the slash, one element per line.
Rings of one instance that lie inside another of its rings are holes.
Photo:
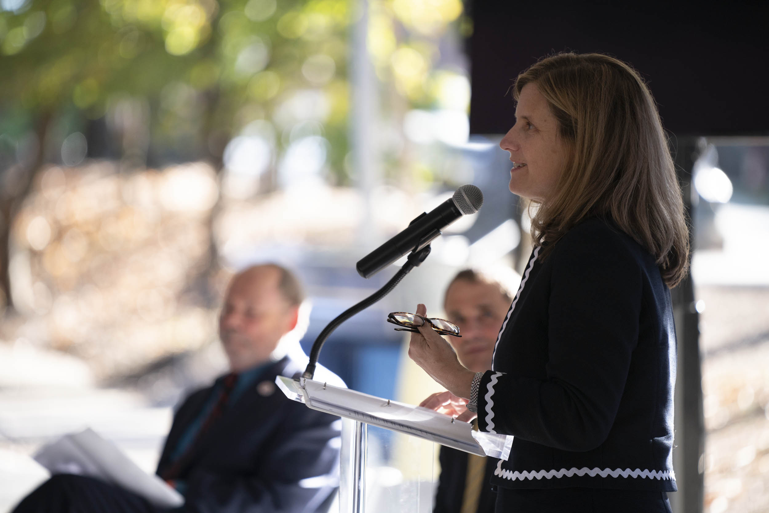
<path fill-rule="evenodd" d="M 621 235 L 606 228 L 574 228 L 550 258 L 546 340 L 515 341 L 547 344 L 545 378 L 487 371 L 478 388 L 478 425 L 589 451 L 614 423 L 638 343 L 641 265 Z"/>

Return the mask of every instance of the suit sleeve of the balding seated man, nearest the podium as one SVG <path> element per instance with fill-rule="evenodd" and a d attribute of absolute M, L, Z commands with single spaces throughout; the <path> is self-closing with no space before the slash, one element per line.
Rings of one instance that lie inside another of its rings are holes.
<path fill-rule="evenodd" d="M 253 471 L 198 468 L 188 482 L 185 511 L 299 513 L 324 503 L 338 488 L 341 421 L 298 403 L 285 408 L 282 415 L 293 420 L 261 445 Z"/>

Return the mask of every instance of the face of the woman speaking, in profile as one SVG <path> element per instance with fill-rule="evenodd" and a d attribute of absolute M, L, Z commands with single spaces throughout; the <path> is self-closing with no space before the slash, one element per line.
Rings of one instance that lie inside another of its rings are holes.
<path fill-rule="evenodd" d="M 551 197 L 568 157 L 558 135 L 558 121 L 537 85 L 521 89 L 515 125 L 502 138 L 500 148 L 510 152 L 510 192 L 544 202 Z"/>

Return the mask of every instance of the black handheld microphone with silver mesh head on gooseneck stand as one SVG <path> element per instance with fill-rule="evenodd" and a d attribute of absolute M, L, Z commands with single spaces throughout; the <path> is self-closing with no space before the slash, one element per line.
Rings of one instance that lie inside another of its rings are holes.
<path fill-rule="evenodd" d="M 451 198 L 422 212 L 398 235 L 358 261 L 355 268 L 363 278 L 370 278 L 415 249 L 424 248 L 441 235 L 441 230 L 463 215 L 474 214 L 483 205 L 483 192 L 475 185 L 462 185 Z"/>

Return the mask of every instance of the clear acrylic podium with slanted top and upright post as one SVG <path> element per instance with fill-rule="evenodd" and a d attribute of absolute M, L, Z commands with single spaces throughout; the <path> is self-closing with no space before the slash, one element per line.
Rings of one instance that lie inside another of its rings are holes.
<path fill-rule="evenodd" d="M 363 513 L 367 511 L 367 505 L 371 505 L 371 501 L 367 501 L 366 498 L 367 455 L 370 448 L 369 425 L 408 435 L 406 438 L 421 438 L 475 455 L 506 460 L 510 454 L 513 441 L 511 436 L 475 431 L 466 422 L 455 421 L 453 418 L 427 408 L 378 398 L 311 379 L 278 376 L 275 382 L 288 398 L 305 403 L 308 408 L 343 418 L 340 512 Z M 388 434 L 392 433 L 384 432 L 384 435 Z M 414 460 L 431 458 L 432 461 L 434 458 L 432 453 L 421 454 L 418 446 L 414 446 L 411 450 L 413 452 L 410 456 Z M 384 478 L 385 481 L 388 478 L 387 475 L 378 477 Z M 369 479 L 368 482 L 371 483 L 371 480 Z M 411 494 L 414 497 L 410 500 L 415 504 L 426 502 L 431 504 L 431 494 L 431 489 L 428 491 L 417 488 Z M 428 496 L 424 497 L 424 495 Z M 425 508 L 420 508 L 418 505 L 414 508 L 414 511 L 425 511 Z"/>

